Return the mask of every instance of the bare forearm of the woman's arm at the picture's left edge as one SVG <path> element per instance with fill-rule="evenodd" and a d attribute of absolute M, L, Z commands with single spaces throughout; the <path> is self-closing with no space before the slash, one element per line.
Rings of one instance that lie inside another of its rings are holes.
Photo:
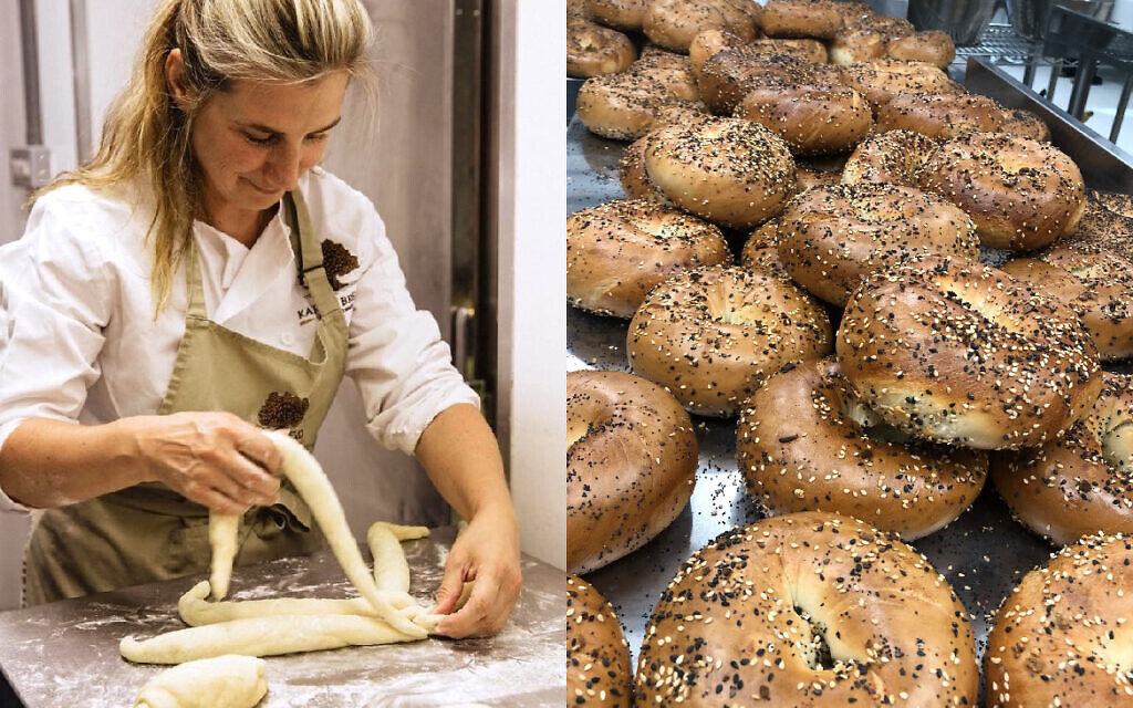
<path fill-rule="evenodd" d="M 24 421 L 0 449 L 0 488 L 39 509 L 74 504 L 144 481 L 128 424 Z"/>

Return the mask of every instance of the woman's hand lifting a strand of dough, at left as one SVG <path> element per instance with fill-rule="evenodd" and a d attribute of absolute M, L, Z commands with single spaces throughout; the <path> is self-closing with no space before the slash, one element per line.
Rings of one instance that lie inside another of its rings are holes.
<path fill-rule="evenodd" d="M 279 501 L 282 457 L 256 426 L 211 411 L 128 420 L 145 481 L 163 483 L 223 514 Z"/>

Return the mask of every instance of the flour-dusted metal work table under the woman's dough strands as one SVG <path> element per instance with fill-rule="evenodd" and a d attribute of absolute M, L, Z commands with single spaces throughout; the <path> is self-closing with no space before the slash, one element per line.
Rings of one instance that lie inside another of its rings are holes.
<path fill-rule="evenodd" d="M 410 591 L 423 605 L 431 604 L 441 582 L 453 536 L 448 527 L 403 544 Z M 269 689 L 259 708 L 561 708 L 564 577 L 528 556 L 522 570 L 519 603 L 499 636 L 266 657 Z M 167 667 L 130 664 L 119 656 L 118 641 L 182 628 L 177 599 L 201 579 L 0 613 L 0 669 L 27 708 L 131 706 L 142 684 Z M 237 568 L 232 590 L 231 599 L 353 595 L 330 552 Z"/>

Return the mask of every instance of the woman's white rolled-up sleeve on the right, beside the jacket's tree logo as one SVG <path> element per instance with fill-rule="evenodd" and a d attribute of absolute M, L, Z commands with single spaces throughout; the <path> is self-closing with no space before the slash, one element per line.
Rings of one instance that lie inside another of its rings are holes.
<path fill-rule="evenodd" d="M 376 211 L 367 214 L 363 242 L 372 250 L 355 293 L 347 373 L 374 438 L 411 455 L 437 413 L 457 403 L 479 406 L 479 396 L 452 366 L 436 319 L 414 305 Z"/>

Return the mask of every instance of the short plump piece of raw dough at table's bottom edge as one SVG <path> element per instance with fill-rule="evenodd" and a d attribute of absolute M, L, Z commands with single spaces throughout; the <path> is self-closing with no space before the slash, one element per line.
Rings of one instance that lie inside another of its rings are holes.
<path fill-rule="evenodd" d="M 161 672 L 138 691 L 134 708 L 252 708 L 266 692 L 266 662 L 219 656 Z"/>

